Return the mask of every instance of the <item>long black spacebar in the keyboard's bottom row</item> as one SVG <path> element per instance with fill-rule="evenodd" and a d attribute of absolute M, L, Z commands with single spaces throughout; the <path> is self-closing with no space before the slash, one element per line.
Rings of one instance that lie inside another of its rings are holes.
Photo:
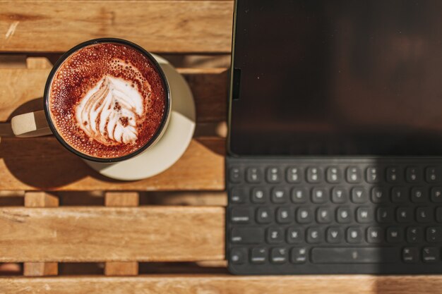
<path fill-rule="evenodd" d="M 313 248 L 313 264 L 385 264 L 400 261 L 400 250 L 393 247 Z"/>

